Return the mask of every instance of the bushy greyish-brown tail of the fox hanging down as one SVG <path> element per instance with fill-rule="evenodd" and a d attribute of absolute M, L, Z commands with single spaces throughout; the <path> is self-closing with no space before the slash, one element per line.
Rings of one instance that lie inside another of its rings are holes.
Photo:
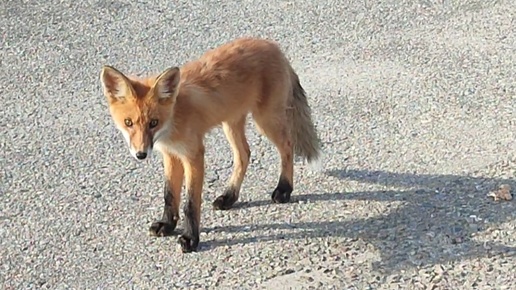
<path fill-rule="evenodd" d="M 299 82 L 299 77 L 292 72 L 292 138 L 294 153 L 304 157 L 310 165 L 321 166 L 321 144 L 317 130 L 312 122 L 312 110 L 308 105 L 306 92 Z"/>

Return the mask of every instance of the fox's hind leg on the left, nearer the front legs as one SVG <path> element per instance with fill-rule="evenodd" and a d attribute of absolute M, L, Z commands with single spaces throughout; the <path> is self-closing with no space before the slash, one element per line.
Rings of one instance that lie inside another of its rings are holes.
<path fill-rule="evenodd" d="M 237 121 L 224 122 L 222 129 L 231 145 L 233 152 L 233 173 L 224 190 L 224 193 L 217 197 L 213 202 L 213 208 L 218 210 L 228 210 L 238 200 L 240 188 L 249 165 L 251 151 L 245 137 L 245 116 Z"/>

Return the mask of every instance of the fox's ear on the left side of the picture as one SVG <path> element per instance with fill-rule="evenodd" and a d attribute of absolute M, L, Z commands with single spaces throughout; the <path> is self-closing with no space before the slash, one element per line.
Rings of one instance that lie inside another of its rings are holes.
<path fill-rule="evenodd" d="M 131 95 L 128 79 L 114 67 L 105 65 L 100 73 L 104 95 L 112 101 L 123 100 Z"/>

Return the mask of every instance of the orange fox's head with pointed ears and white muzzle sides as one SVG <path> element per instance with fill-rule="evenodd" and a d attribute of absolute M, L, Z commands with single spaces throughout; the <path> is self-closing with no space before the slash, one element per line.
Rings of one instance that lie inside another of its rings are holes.
<path fill-rule="evenodd" d="M 155 78 L 130 79 L 111 66 L 100 74 L 113 121 L 129 145 L 131 155 L 143 160 L 154 143 L 166 135 L 179 93 L 179 68 Z"/>

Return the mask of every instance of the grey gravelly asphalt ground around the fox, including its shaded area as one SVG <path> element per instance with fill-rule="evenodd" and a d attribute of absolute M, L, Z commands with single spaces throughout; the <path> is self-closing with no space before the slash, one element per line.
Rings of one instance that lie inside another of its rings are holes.
<path fill-rule="evenodd" d="M 0 2 L 2 289 L 516 289 L 516 4 L 512 0 Z M 248 127 L 241 202 L 206 138 L 200 250 L 148 236 L 161 158 L 129 156 L 103 64 L 155 73 L 235 37 L 278 41 L 298 71 L 325 168 Z M 512 277 L 512 278 L 511 278 Z"/>

